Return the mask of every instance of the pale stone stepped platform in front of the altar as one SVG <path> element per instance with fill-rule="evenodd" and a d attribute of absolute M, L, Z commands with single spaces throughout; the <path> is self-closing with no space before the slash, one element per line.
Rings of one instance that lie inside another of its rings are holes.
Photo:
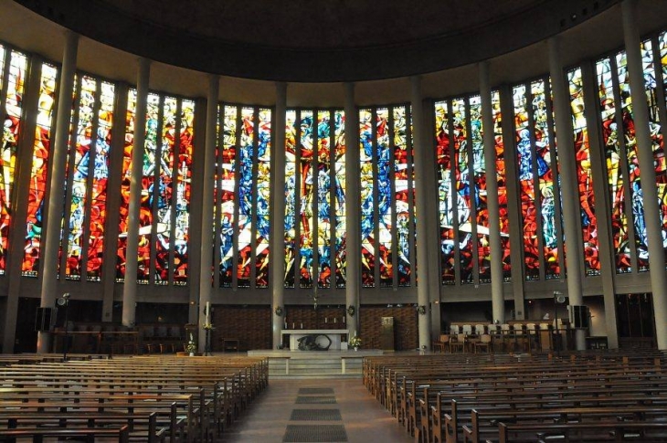
<path fill-rule="evenodd" d="M 381 349 L 358 351 L 254 350 L 251 357 L 269 359 L 270 378 L 361 378 L 365 356 L 382 355 Z"/>

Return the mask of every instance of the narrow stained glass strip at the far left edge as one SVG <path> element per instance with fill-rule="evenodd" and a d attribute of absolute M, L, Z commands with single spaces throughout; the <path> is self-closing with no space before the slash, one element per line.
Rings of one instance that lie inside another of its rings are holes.
<path fill-rule="evenodd" d="M 2 51 L 7 59 L 7 53 Z M 6 76 L 2 90 L 5 97 L 5 120 L 3 125 L 2 145 L 0 146 L 0 275 L 6 271 L 6 254 L 9 247 L 9 227 L 12 226 L 12 195 L 14 189 L 16 150 L 21 132 L 23 115 L 23 96 L 26 83 L 27 58 L 20 52 L 11 51 L 8 67 L 3 67 Z M 8 68 L 8 69 L 6 69 Z M 1 89 L 0 89 L 1 90 Z"/>

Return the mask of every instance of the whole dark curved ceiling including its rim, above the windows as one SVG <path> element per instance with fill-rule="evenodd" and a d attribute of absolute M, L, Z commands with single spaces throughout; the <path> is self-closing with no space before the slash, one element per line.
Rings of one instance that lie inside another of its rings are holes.
<path fill-rule="evenodd" d="M 392 79 L 526 47 L 619 0 L 15 0 L 170 65 L 291 82 Z"/>

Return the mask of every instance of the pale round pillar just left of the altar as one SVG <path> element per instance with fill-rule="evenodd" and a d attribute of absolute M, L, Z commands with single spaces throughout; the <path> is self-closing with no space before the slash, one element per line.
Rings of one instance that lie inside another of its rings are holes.
<path fill-rule="evenodd" d="M 271 211 L 271 291 L 273 349 L 282 343 L 285 320 L 285 124 L 287 112 L 287 83 L 276 82 L 276 115 L 271 145 L 271 180 L 273 195 Z M 278 310 L 280 308 L 280 311 Z"/>

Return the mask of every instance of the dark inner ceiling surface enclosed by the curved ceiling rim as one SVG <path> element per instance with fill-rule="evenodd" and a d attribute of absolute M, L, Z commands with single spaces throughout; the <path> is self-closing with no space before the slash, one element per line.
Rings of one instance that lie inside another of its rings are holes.
<path fill-rule="evenodd" d="M 283 48 L 386 47 L 467 33 L 545 0 L 101 0 L 189 34 Z"/>

